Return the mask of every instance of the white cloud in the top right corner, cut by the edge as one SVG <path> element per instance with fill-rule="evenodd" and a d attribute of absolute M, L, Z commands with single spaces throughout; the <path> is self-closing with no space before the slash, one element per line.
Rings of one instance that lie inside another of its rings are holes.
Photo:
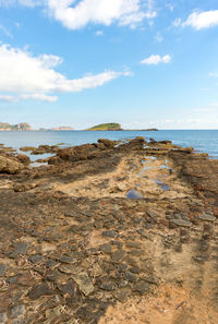
<path fill-rule="evenodd" d="M 216 25 L 218 26 L 218 10 L 203 12 L 194 11 L 192 14 L 189 15 L 185 22 L 182 22 L 181 19 L 177 19 L 173 25 L 177 27 L 191 26 L 196 31 L 209 28 Z"/>

